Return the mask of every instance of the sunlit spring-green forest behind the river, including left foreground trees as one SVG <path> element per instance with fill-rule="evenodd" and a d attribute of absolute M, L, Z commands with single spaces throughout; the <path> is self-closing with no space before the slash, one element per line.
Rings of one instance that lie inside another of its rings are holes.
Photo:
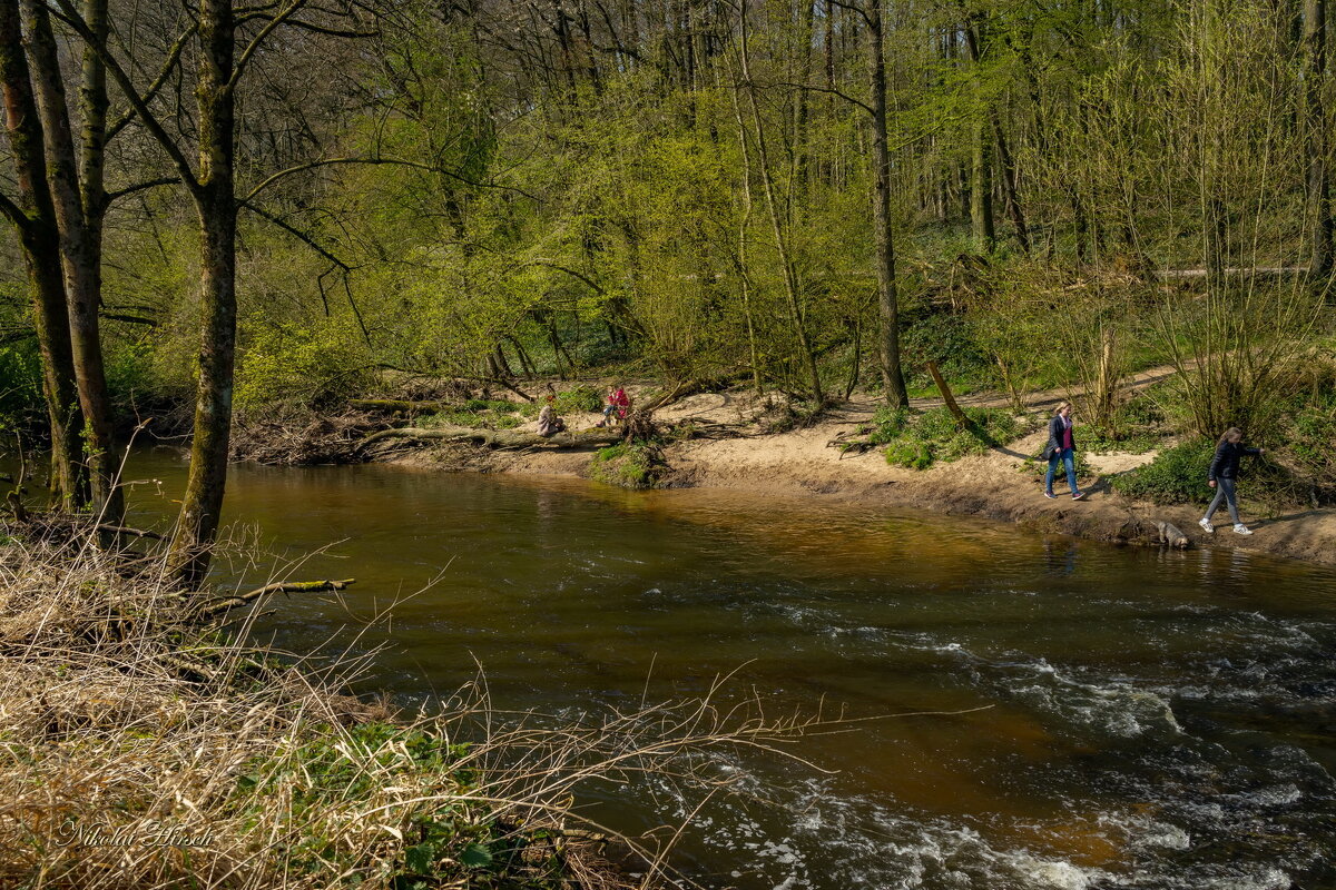
<path fill-rule="evenodd" d="M 236 424 L 411 380 L 812 416 L 935 362 L 1117 440 L 1168 364 L 1174 434 L 1329 478 L 1328 43 L 1325 0 L 3 0 L 0 416 L 112 520 L 131 432 L 188 435 L 196 578 Z"/>

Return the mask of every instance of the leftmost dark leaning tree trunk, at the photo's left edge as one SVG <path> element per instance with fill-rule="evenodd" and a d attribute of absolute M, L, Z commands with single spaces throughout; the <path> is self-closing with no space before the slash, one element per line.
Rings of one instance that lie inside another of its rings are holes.
<path fill-rule="evenodd" d="M 19 205 L 7 200 L 5 212 L 19 231 L 32 291 L 32 318 L 41 351 L 41 388 L 51 419 L 52 496 L 61 508 L 73 510 L 88 499 L 81 463 L 83 412 L 79 410 L 69 315 L 60 274 L 60 234 L 47 188 L 41 127 L 28 61 L 21 49 L 17 0 L 0 0 L 0 88 L 19 191 Z"/>

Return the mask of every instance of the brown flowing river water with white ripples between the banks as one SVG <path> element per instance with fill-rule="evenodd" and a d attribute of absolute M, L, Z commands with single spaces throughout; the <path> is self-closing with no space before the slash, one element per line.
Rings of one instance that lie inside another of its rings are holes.
<path fill-rule="evenodd" d="M 184 470 L 159 450 L 132 475 L 162 480 L 134 502 L 163 514 Z M 673 859 L 705 886 L 1336 887 L 1329 570 L 574 479 L 242 464 L 228 484 L 230 522 L 315 554 L 294 578 L 358 579 L 275 598 L 261 630 L 294 651 L 361 634 L 399 701 L 477 659 L 501 709 L 633 709 L 736 671 L 725 697 L 859 721 L 799 741 L 812 766 L 712 755 L 732 790 Z M 890 717 L 918 711 L 969 713 Z M 591 801 L 624 830 L 697 803 L 668 782 Z"/>

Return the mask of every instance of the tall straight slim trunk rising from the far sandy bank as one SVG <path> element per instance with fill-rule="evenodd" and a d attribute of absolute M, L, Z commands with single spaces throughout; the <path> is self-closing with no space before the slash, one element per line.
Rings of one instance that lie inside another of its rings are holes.
<path fill-rule="evenodd" d="M 899 295 L 895 288 L 895 240 L 891 232 L 891 155 L 886 135 L 886 48 L 882 40 L 882 0 L 867 9 L 867 39 L 871 52 L 868 73 L 872 88 L 872 163 L 876 168 L 872 192 L 872 228 L 876 235 L 876 307 L 882 322 L 878 350 L 886 403 L 902 408 L 910 403 L 900 368 Z"/>

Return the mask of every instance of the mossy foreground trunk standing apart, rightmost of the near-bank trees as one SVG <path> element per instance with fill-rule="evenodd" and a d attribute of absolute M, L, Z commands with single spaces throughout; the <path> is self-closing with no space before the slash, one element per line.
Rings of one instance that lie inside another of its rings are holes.
<path fill-rule="evenodd" d="M 194 191 L 200 224 L 200 344 L 195 434 L 182 499 L 174 568 L 187 587 L 208 571 L 227 482 L 236 351 L 236 195 L 234 184 L 231 0 L 199 8 L 199 180 Z"/>

